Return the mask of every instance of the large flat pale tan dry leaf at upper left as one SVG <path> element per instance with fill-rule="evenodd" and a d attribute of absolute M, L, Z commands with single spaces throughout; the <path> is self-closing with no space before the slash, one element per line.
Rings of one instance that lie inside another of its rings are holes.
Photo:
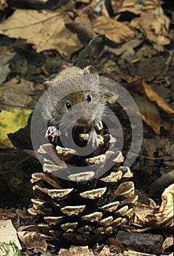
<path fill-rule="evenodd" d="M 71 22 L 68 13 L 42 10 L 15 10 L 0 24 L 0 33 L 8 37 L 26 39 L 36 45 L 36 50 L 58 50 L 63 56 L 70 56 L 82 48 L 76 34 L 66 28 Z"/>

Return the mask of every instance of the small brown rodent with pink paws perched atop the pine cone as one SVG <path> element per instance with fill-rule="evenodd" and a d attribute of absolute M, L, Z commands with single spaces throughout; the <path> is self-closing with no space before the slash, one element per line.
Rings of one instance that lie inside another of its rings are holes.
<path fill-rule="evenodd" d="M 88 143 L 92 143 L 92 147 L 98 146 L 96 130 L 103 128 L 105 105 L 96 69 L 92 66 L 84 69 L 68 67 L 45 82 L 44 86 L 45 89 L 51 89 L 44 109 L 50 124 L 46 137 L 56 141 L 64 132 L 64 129 L 60 131 L 60 122 L 63 120 L 66 131 L 72 126 L 87 128 Z M 82 102 L 84 106 L 79 104 Z"/>

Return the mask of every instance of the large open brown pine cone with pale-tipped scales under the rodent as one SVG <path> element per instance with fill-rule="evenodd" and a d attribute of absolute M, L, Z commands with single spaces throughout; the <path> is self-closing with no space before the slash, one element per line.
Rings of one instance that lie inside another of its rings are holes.
<path fill-rule="evenodd" d="M 83 141 L 87 136 L 79 138 Z M 133 218 L 138 196 L 133 182 L 127 181 L 133 173 L 121 166 L 121 152 L 108 150 L 116 140 L 108 134 L 99 138 L 98 148 L 87 157 L 52 144 L 40 147 L 43 173 L 32 175 L 35 198 L 28 209 L 40 233 L 69 244 L 89 245 L 114 235 Z M 87 170 L 81 170 L 85 166 Z"/>

